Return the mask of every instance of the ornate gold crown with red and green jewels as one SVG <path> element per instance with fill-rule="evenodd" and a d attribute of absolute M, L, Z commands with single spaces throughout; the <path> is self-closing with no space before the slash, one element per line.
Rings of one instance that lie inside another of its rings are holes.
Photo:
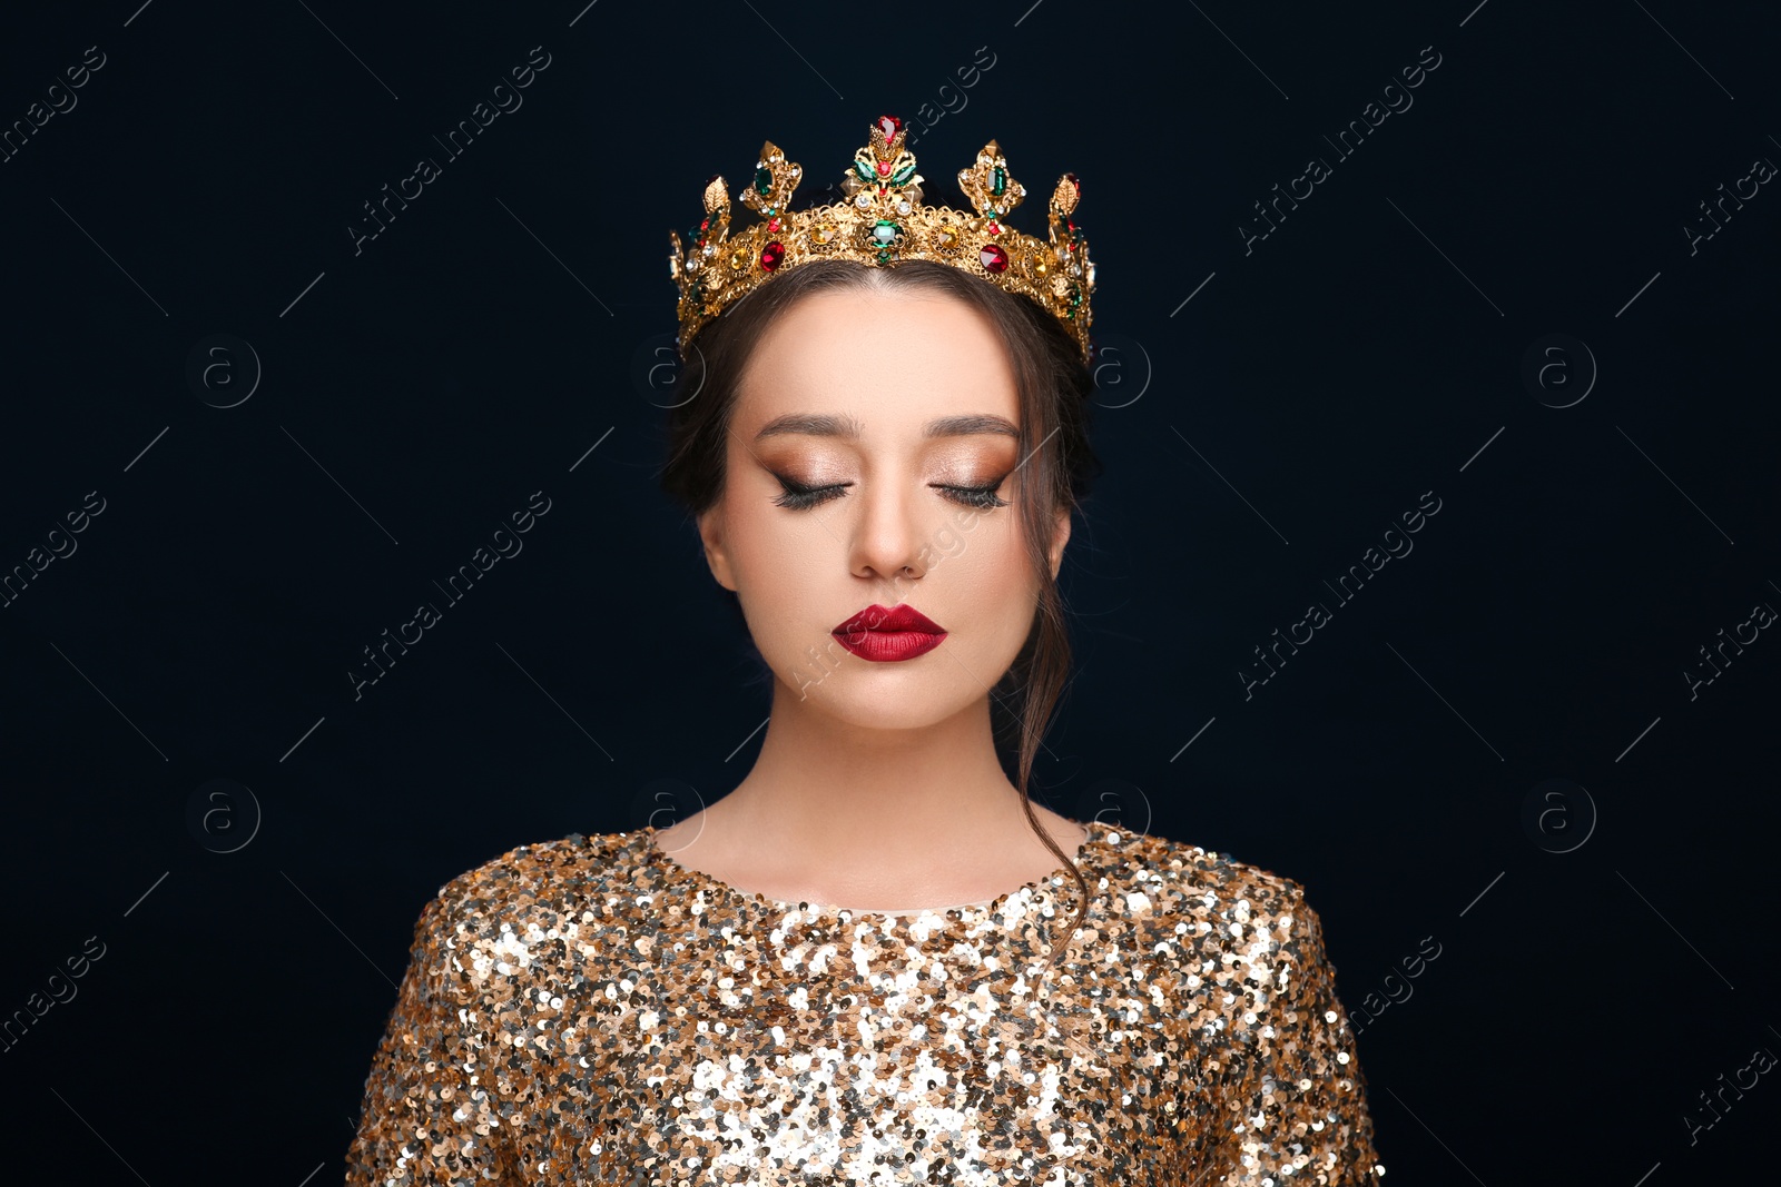
<path fill-rule="evenodd" d="M 800 212 L 787 206 L 803 169 L 768 141 L 760 148 L 753 185 L 741 192 L 741 201 L 760 221 L 734 238 L 723 174 L 712 176 L 705 183 L 705 217 L 687 231 L 687 246 L 682 246 L 679 231 L 668 231 L 673 242 L 668 272 L 680 287 L 680 336 L 675 342 L 682 356 L 693 335 L 730 301 L 800 263 L 935 260 L 1031 297 L 1063 322 L 1088 359 L 1088 297 L 1095 290 L 1095 265 L 1088 260 L 1083 228 L 1070 219 L 1081 198 L 1076 174 L 1065 173 L 1051 192 L 1047 242 L 1003 222 L 1026 198 L 1026 187 L 1008 174 L 996 141 L 983 146 L 974 166 L 958 171 L 958 187 L 976 206 L 972 215 L 921 205 L 921 174 L 903 139 L 903 121 L 880 116 L 873 123 L 871 142 L 853 155 L 853 167 L 841 182 L 848 198 Z"/>

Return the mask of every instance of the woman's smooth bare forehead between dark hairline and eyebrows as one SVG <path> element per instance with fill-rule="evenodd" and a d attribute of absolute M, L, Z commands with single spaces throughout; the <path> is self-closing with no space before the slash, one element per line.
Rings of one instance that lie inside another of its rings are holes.
<path fill-rule="evenodd" d="M 931 290 L 801 297 L 757 343 L 736 400 L 744 436 L 787 415 L 851 418 L 864 436 L 962 415 L 1021 420 L 1008 347 L 988 315 Z"/>

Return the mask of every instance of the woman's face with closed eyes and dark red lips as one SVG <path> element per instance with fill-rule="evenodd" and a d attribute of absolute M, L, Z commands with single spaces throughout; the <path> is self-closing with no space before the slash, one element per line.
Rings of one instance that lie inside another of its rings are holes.
<path fill-rule="evenodd" d="M 883 730 L 988 696 L 1040 589 L 1019 418 L 1006 347 L 955 297 L 826 290 L 780 313 L 737 388 L 723 497 L 700 516 L 780 696 Z M 1054 525 L 1053 577 L 1069 514 Z M 871 607 L 901 605 L 946 632 L 939 646 L 862 630 L 882 623 Z"/>

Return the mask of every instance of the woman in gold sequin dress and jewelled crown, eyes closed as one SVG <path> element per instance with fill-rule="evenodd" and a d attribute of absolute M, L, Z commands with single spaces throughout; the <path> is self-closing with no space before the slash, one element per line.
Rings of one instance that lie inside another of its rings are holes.
<path fill-rule="evenodd" d="M 892 117 L 842 201 L 800 173 L 768 144 L 736 237 L 714 178 L 673 256 L 663 482 L 773 673 L 760 756 L 440 890 L 347 1182 L 1377 1180 L 1300 886 L 1026 794 L 1094 470 L 1074 178 L 1047 242 L 994 142 L 976 214 Z"/>

